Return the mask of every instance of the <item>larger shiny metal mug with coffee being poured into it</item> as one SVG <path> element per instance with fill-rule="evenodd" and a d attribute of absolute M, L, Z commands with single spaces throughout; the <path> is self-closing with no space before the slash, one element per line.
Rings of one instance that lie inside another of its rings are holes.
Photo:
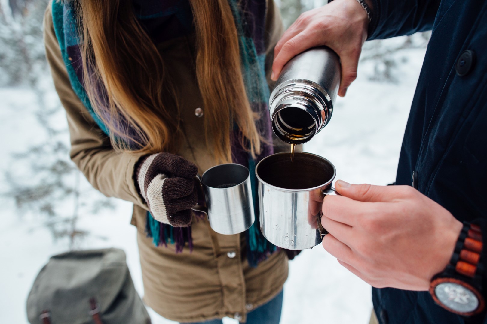
<path fill-rule="evenodd" d="M 316 154 L 276 153 L 256 167 L 261 231 L 274 245 L 288 250 L 316 246 L 328 232 L 321 226 L 325 195 L 332 188 L 335 166 Z"/>

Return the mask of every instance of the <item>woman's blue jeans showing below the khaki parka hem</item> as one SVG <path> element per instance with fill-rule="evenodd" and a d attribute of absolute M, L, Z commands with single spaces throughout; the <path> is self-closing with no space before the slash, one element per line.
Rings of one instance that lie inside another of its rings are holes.
<path fill-rule="evenodd" d="M 279 324 L 281 321 L 283 295 L 284 291 L 281 290 L 281 292 L 268 301 L 267 304 L 248 312 L 247 322 L 245 322 L 245 324 Z M 211 320 L 191 324 L 223 324 L 223 322 L 222 320 Z"/>

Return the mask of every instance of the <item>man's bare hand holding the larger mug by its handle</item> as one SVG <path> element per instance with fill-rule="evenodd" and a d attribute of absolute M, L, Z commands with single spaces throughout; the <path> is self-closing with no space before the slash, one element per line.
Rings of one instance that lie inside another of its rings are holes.
<path fill-rule="evenodd" d="M 462 230 L 448 210 L 409 186 L 350 185 L 326 196 L 323 247 L 376 288 L 428 290 Z"/>

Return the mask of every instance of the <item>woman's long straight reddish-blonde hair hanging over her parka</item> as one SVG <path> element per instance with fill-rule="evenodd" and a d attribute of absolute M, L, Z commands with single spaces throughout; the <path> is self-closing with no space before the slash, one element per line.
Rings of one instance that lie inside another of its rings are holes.
<path fill-rule="evenodd" d="M 205 107 L 205 135 L 220 162 L 231 162 L 234 122 L 245 148 L 261 150 L 256 116 L 245 93 L 238 33 L 228 0 L 189 0 L 196 28 L 196 77 Z M 176 86 L 128 0 L 81 0 L 83 82 L 112 143 L 138 152 L 176 153 L 181 137 Z M 103 87 L 100 87 L 103 85 Z M 107 116 L 107 110 L 109 115 Z M 105 113 L 104 113 L 105 112 Z M 132 132 L 128 132 L 132 129 Z M 130 134 L 135 133 L 135 134 Z"/>

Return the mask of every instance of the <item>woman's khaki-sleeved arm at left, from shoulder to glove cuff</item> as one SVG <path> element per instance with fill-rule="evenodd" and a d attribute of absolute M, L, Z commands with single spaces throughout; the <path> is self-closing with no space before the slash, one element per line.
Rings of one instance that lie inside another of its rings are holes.
<path fill-rule="evenodd" d="M 134 166 L 145 154 L 114 151 L 110 138 L 96 125 L 76 96 L 57 43 L 51 5 L 44 16 L 44 42 L 54 85 L 66 110 L 71 136 L 71 159 L 91 185 L 104 195 L 148 209 L 133 180 Z"/>

